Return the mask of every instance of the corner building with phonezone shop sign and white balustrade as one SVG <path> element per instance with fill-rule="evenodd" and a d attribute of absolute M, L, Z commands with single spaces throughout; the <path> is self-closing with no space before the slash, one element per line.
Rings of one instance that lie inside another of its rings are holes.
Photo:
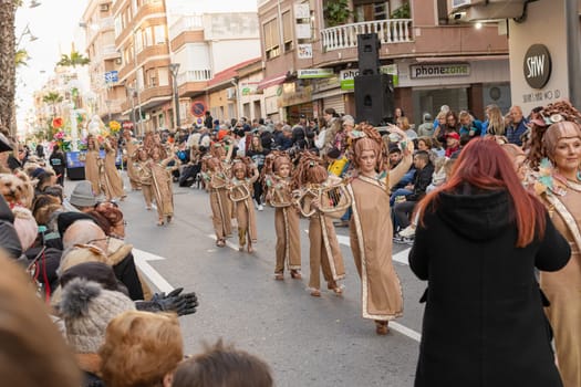
<path fill-rule="evenodd" d="M 297 121 L 355 112 L 357 34 L 376 32 L 395 106 L 412 122 L 443 104 L 481 117 L 510 106 L 508 41 L 498 23 L 456 23 L 447 0 L 259 0 L 266 115 Z"/>

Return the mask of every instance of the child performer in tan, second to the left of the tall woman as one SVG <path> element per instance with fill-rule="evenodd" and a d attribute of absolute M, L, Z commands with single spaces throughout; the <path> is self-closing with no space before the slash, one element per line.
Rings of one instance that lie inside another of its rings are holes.
<path fill-rule="evenodd" d="M 272 151 L 264 164 L 267 181 L 267 202 L 276 208 L 274 228 L 277 230 L 277 265 L 274 279 L 284 279 L 284 262 L 291 278 L 301 275 L 301 234 L 299 231 L 299 212 L 292 205 L 292 163 L 286 153 Z"/>

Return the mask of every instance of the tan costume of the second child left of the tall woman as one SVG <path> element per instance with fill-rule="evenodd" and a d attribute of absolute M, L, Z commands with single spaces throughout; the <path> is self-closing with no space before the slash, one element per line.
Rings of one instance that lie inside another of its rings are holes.
<path fill-rule="evenodd" d="M 290 178 L 268 177 L 269 203 L 276 207 L 274 229 L 277 231 L 277 265 L 274 273 L 301 269 L 301 234 L 299 212 L 292 207 Z"/>

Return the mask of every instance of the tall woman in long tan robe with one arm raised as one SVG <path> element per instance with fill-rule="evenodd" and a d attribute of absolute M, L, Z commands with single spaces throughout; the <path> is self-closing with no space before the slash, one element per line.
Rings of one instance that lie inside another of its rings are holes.
<path fill-rule="evenodd" d="M 378 335 L 387 334 L 390 320 L 403 314 L 402 285 L 392 262 L 390 189 L 412 166 L 414 149 L 401 129 L 390 126 L 390 130 L 404 139 L 404 158 L 386 176 L 377 174 L 383 170 L 380 134 L 367 125 L 353 130 L 353 163 L 359 175 L 347 186 L 353 200 L 351 250 L 362 281 L 363 317 L 375 321 Z"/>

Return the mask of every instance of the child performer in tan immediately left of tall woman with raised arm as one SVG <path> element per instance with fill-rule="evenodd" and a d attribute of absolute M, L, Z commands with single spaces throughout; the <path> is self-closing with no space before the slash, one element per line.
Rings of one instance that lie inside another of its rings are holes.
<path fill-rule="evenodd" d="M 311 276 L 309 279 L 309 287 L 311 295 L 314 297 L 321 296 L 321 279 L 320 272 L 323 270 L 323 278 L 326 281 L 326 287 L 332 290 L 336 295 L 341 295 L 343 290 L 336 284 L 336 281 L 345 276 L 345 268 L 343 265 L 343 255 L 339 248 L 339 241 L 335 234 L 335 228 L 329 212 L 321 211 L 322 201 L 331 201 L 330 190 L 325 188 L 339 189 L 342 185 L 340 178 L 334 175 L 329 175 L 326 169 L 322 166 L 322 160 L 310 153 L 302 153 L 299 165 L 294 172 L 294 185 L 299 188 L 301 212 L 309 216 L 309 240 L 310 261 L 311 261 Z M 346 200 L 349 206 L 349 196 L 343 190 L 343 200 Z M 315 196 L 315 194 L 318 194 Z M 333 199 L 339 200 L 338 196 Z M 342 203 L 344 205 L 344 202 Z M 343 210 L 338 210 L 335 217 L 340 218 Z"/>

